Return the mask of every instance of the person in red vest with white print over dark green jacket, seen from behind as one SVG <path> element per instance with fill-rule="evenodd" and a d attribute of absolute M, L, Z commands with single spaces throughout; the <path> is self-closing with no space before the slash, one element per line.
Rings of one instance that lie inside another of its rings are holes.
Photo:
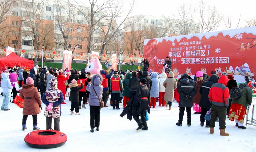
<path fill-rule="evenodd" d="M 120 93 L 123 92 L 123 83 L 120 78 L 120 76 L 117 74 L 117 72 L 114 72 L 114 76 L 111 78 L 110 81 L 110 90 L 112 91 L 111 96 L 113 99 L 112 107 L 113 109 L 120 109 Z"/>

